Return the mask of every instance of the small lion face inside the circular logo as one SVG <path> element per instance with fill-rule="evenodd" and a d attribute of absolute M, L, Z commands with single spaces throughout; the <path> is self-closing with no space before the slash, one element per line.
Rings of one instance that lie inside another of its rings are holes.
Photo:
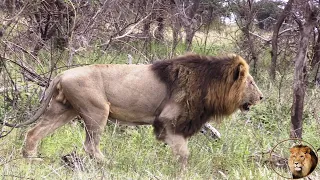
<path fill-rule="evenodd" d="M 295 145 L 290 148 L 288 165 L 293 179 L 308 176 L 316 168 L 318 157 L 312 149 L 305 145 Z"/>

